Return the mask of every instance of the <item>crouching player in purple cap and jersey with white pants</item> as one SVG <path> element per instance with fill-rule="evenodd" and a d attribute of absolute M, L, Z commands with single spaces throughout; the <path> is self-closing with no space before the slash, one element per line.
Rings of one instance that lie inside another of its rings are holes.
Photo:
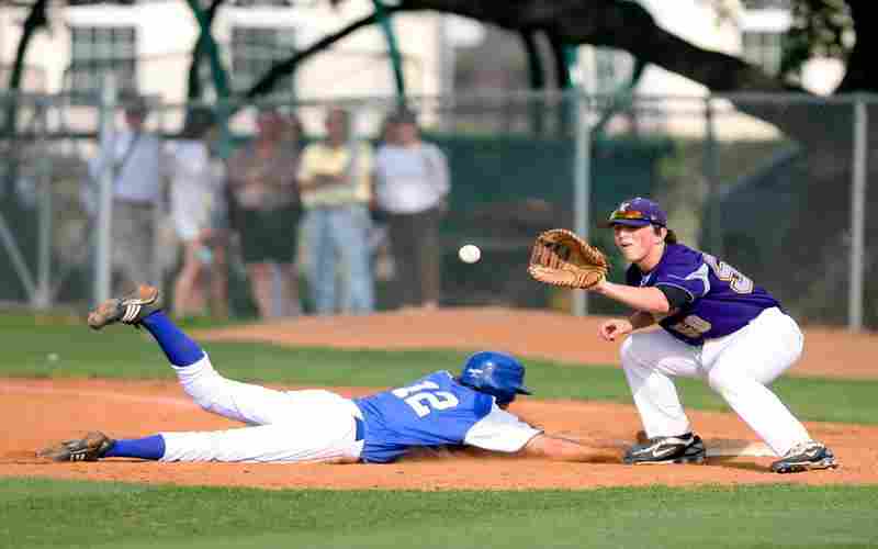
<path fill-rule="evenodd" d="M 631 334 L 621 347 L 628 384 L 649 441 L 633 446 L 627 463 L 702 462 L 705 446 L 694 435 L 674 386 L 675 376 L 701 378 L 780 457 L 778 473 L 837 467 L 832 451 L 766 386 L 796 362 L 803 336 L 764 289 L 716 257 L 677 243 L 667 215 L 652 200 L 622 202 L 606 226 L 631 262 L 626 284 L 603 280 L 592 290 L 635 312 L 603 323 L 614 340 L 658 324 L 664 329 Z"/>

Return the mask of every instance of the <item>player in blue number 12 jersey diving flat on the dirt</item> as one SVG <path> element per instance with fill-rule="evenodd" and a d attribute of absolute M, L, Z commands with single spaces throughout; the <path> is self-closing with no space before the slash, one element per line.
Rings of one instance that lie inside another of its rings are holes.
<path fill-rule="evenodd" d="M 362 399 L 323 390 L 277 391 L 223 378 L 207 355 L 159 309 L 159 292 L 140 285 L 89 315 L 100 329 L 144 326 L 158 341 L 185 392 L 204 410 L 248 424 L 202 433 L 160 433 L 113 440 L 100 432 L 41 450 L 56 461 L 126 457 L 161 461 L 384 463 L 416 447 L 473 446 L 569 461 L 596 455 L 544 434 L 506 412 L 525 388 L 525 367 L 500 352 L 469 358 L 460 377 L 437 371 Z"/>

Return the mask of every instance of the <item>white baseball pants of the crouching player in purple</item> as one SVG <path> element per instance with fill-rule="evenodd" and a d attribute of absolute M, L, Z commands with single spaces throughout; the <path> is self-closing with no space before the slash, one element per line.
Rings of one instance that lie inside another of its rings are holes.
<path fill-rule="evenodd" d="M 773 307 L 702 346 L 687 345 L 664 329 L 631 334 L 621 346 L 621 360 L 648 437 L 691 430 L 672 378 L 701 378 L 784 456 L 810 436 L 766 385 L 798 360 L 803 341 L 796 321 Z"/>

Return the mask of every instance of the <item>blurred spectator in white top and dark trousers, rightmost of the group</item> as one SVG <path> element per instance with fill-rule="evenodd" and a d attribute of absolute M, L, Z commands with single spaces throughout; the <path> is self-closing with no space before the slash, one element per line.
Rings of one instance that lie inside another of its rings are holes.
<path fill-rule="evenodd" d="M 375 203 L 390 227 L 403 306 L 436 307 L 440 294 L 439 223 L 447 211 L 448 159 L 420 138 L 415 114 L 389 119 L 375 155 Z"/>

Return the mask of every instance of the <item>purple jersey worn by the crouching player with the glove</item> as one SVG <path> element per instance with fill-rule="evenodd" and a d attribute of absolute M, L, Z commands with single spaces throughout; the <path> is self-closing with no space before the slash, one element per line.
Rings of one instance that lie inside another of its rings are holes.
<path fill-rule="evenodd" d="M 729 335 L 766 309 L 780 306 L 734 267 L 682 244 L 665 246 L 661 261 L 650 272 L 631 265 L 626 280 L 630 285 L 666 285 L 685 291 L 689 301 L 658 324 L 690 345 Z"/>

